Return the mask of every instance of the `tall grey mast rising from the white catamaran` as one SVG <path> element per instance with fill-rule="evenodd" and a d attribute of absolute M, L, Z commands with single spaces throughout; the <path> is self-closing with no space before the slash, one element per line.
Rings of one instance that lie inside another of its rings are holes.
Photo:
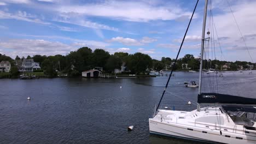
<path fill-rule="evenodd" d="M 199 89 L 198 94 L 201 94 L 202 86 L 202 65 L 203 65 L 203 48 L 205 46 L 205 25 L 206 25 L 206 16 L 207 16 L 207 5 L 208 0 L 205 0 L 205 11 L 203 14 L 203 26 L 202 26 L 202 41 L 201 41 L 201 58 L 200 58 L 200 73 L 199 73 Z"/>

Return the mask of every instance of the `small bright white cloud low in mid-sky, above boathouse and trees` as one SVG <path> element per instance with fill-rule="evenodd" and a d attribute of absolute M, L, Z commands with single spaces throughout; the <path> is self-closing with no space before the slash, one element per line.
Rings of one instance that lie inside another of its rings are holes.
<path fill-rule="evenodd" d="M 139 43 L 139 41 L 136 40 L 136 39 L 123 38 L 123 37 L 115 37 L 115 38 L 112 38 L 112 39 L 107 40 L 107 41 L 108 42 L 119 42 L 119 43 L 122 43 L 124 45 L 135 45 L 135 46 L 143 45 L 142 43 Z"/>

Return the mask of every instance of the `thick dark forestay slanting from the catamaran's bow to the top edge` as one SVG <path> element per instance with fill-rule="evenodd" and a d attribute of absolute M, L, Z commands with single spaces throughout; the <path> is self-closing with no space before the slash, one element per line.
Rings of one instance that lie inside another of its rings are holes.
<path fill-rule="evenodd" d="M 162 92 L 162 97 L 164 97 L 164 95 L 165 95 L 166 88 L 168 87 L 168 83 L 169 83 L 169 81 L 170 81 L 170 79 L 171 79 L 172 72 L 173 72 L 173 70 L 174 70 L 174 67 L 175 67 L 175 65 L 176 65 L 176 62 L 177 62 L 177 59 L 178 59 L 178 56 L 179 56 L 179 52 L 181 52 L 182 45 L 183 45 L 184 40 L 185 40 L 185 37 L 186 37 L 186 35 L 187 35 L 188 29 L 189 29 L 190 23 L 191 23 L 191 21 L 192 21 L 192 18 L 193 18 L 193 16 L 194 16 L 194 13 L 195 13 L 195 10 L 196 10 L 196 6 L 197 6 L 198 2 L 199 2 L 199 0 L 197 0 L 196 5 L 195 5 L 195 8 L 194 8 L 194 11 L 193 11 L 193 13 L 192 13 L 192 15 L 191 15 L 191 17 L 190 17 L 189 24 L 188 24 L 188 27 L 187 27 L 186 32 L 185 32 L 185 34 L 184 34 L 184 37 L 183 37 L 183 39 L 182 39 L 181 46 L 179 47 L 178 54 L 177 54 L 177 56 L 176 56 L 176 59 L 175 59 L 175 61 L 174 61 L 174 64 L 172 65 L 171 74 L 170 74 L 170 76 L 168 77 L 168 80 L 167 80 L 167 83 L 166 83 L 164 92 Z M 161 101 L 162 101 L 162 97 L 161 97 L 161 99 L 160 99 L 160 101 L 159 101 L 159 103 L 158 103 L 158 107 L 156 107 L 156 110 L 158 110 L 158 108 L 159 108 L 159 106 L 160 106 L 160 103 L 161 103 Z"/>

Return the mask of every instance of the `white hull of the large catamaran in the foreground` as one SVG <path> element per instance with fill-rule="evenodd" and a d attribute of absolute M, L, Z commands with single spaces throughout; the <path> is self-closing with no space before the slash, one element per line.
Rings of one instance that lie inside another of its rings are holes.
<path fill-rule="evenodd" d="M 170 114 L 170 112 L 173 112 L 171 115 L 174 116 L 177 115 L 177 112 L 179 113 L 181 111 L 169 111 L 168 113 Z M 178 117 L 164 117 L 162 114 L 156 115 L 154 118 L 149 118 L 150 133 L 214 143 L 256 143 L 256 133 L 244 133 L 241 129 L 235 130 L 224 125 L 222 128 L 216 128 L 213 125 L 184 121 L 186 118 L 179 120 Z M 197 115 L 200 117 L 199 113 Z"/>

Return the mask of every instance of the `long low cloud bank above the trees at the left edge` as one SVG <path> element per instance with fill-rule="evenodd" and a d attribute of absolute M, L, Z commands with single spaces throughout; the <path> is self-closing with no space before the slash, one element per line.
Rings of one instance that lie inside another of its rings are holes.
<path fill-rule="evenodd" d="M 42 39 L 10 39 L 7 41 L 0 41 L 0 48 L 4 50 L 4 54 L 13 58 L 15 58 L 16 55 L 66 55 L 70 51 L 77 50 L 83 46 L 90 47 L 92 50 L 105 49 L 103 45 L 95 45 L 97 43 L 90 43 L 90 41 L 88 42 L 89 43 L 63 44 L 58 41 L 53 42 Z"/>

